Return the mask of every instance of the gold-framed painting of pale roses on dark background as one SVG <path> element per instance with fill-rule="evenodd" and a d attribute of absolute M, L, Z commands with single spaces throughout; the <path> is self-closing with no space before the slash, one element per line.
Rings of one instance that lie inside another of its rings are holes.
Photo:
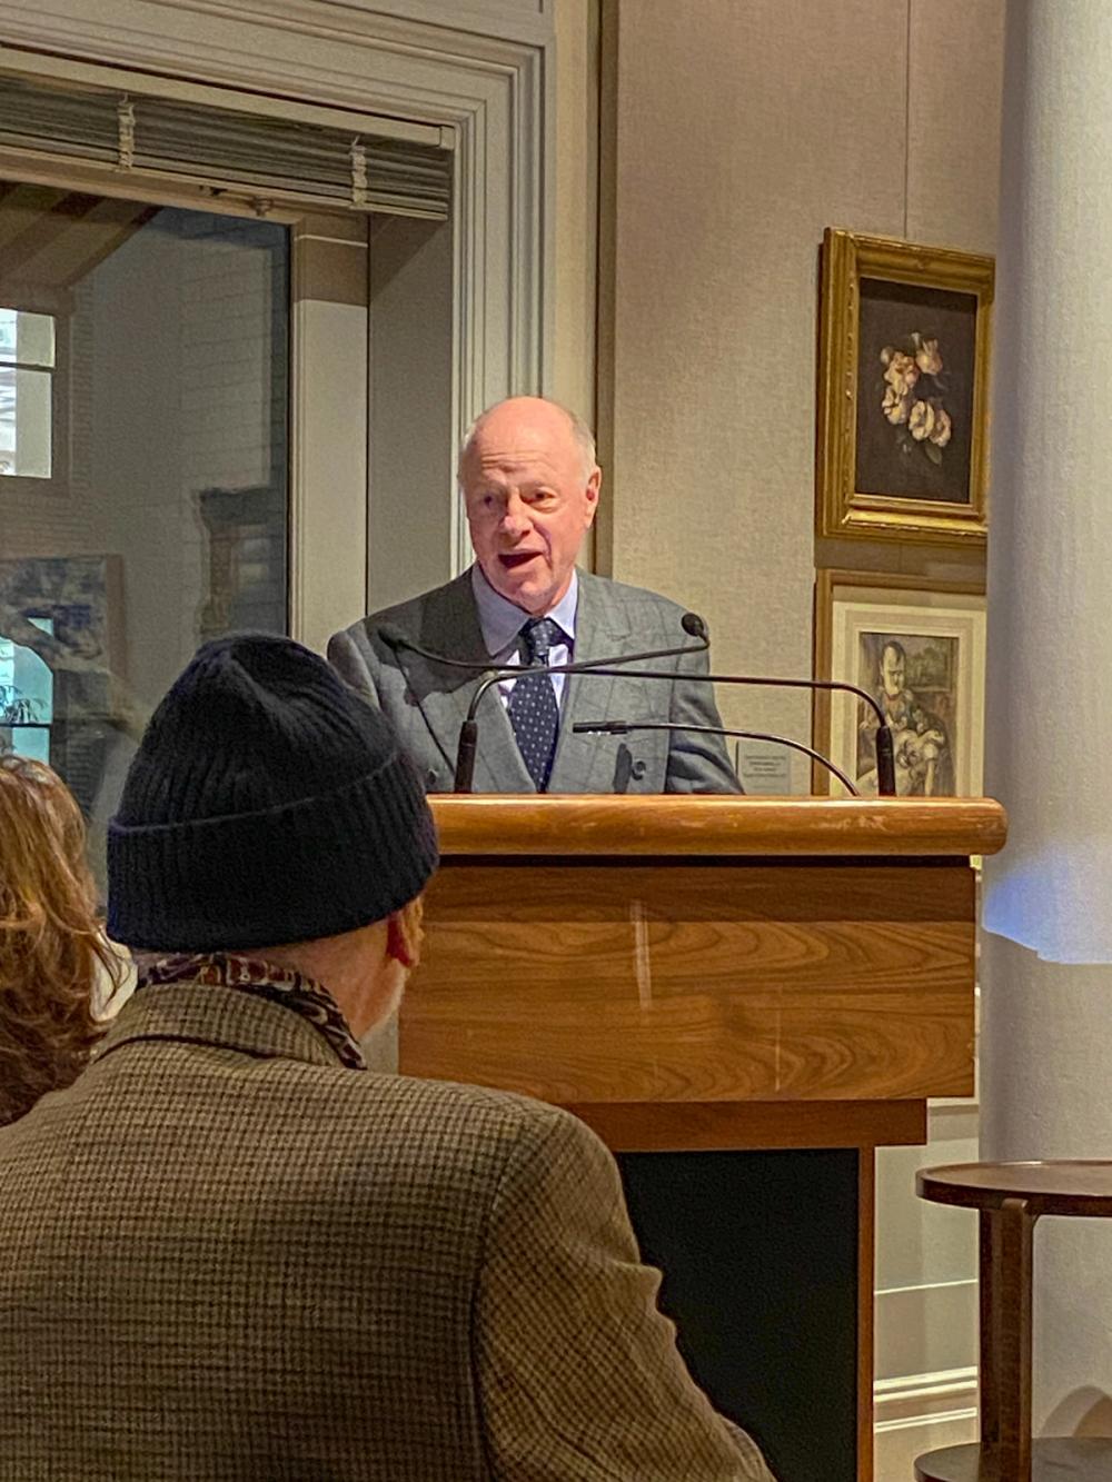
<path fill-rule="evenodd" d="M 820 536 L 983 541 L 993 261 L 827 228 Z"/>

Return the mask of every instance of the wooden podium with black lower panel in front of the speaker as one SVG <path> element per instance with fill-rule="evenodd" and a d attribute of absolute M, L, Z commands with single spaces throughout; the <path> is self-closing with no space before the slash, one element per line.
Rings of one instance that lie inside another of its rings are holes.
<path fill-rule="evenodd" d="M 973 1094 L 983 799 L 433 799 L 399 1066 L 565 1106 L 780 1482 L 872 1476 L 873 1162 Z"/>

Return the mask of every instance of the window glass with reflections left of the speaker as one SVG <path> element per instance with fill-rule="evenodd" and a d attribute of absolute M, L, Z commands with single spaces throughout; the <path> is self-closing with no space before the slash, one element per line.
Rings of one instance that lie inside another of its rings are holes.
<path fill-rule="evenodd" d="M 9 212 L 49 227 L 27 307 L 0 308 L 0 467 L 19 476 L 0 479 L 0 685 L 49 716 L 0 711 L 0 750 L 46 751 L 101 874 L 128 763 L 199 643 L 288 630 L 289 231 L 67 200 L 0 193 L 0 234 Z"/>

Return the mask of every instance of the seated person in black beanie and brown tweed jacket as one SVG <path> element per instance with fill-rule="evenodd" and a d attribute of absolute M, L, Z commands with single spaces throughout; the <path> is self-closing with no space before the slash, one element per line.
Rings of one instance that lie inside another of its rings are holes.
<path fill-rule="evenodd" d="M 200 649 L 110 824 L 139 986 L 0 1129 L 0 1479 L 768 1482 L 595 1135 L 366 1069 L 434 868 L 380 711 L 286 639 Z"/>

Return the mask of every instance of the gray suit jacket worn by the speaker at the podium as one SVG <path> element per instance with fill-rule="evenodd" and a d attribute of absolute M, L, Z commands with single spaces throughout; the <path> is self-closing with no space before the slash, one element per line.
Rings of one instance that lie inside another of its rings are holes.
<path fill-rule="evenodd" d="M 684 609 L 639 587 L 580 572 L 575 661 L 676 648 L 685 642 Z M 522 621 L 525 615 L 522 614 Z M 397 655 L 381 637 L 390 624 L 415 643 L 449 658 L 488 662 L 470 574 L 337 633 L 328 657 L 350 685 L 397 726 L 428 791 L 452 790 L 460 725 L 479 677 Z M 688 679 L 707 673 L 706 654 L 663 659 L 673 680 L 572 674 L 560 707 L 550 793 L 737 793 L 740 784 L 721 737 L 641 731 L 629 737 L 572 735 L 575 720 L 670 720 L 722 725 L 713 686 Z M 535 791 L 497 689 L 479 707 L 477 793 Z"/>

